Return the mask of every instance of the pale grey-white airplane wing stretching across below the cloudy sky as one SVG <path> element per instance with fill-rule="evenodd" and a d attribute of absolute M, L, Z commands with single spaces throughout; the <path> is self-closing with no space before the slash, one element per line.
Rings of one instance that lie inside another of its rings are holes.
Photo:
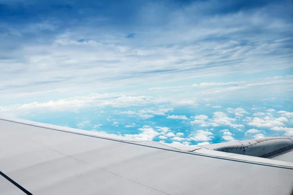
<path fill-rule="evenodd" d="M 289 161 L 241 154 L 268 141 L 186 150 L 0 118 L 0 195 L 291 195 L 289 139 Z"/>

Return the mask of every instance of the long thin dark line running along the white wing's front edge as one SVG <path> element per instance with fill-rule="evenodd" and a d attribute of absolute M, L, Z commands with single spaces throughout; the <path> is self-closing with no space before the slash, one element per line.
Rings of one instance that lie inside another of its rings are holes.
<path fill-rule="evenodd" d="M 285 165 L 272 165 L 272 164 L 266 164 L 265 162 L 251 162 L 251 161 L 240 160 L 240 159 L 231 159 L 229 157 L 219 157 L 219 156 L 211 156 L 211 155 L 196 154 L 196 153 L 183 152 L 183 151 L 177 151 L 177 150 L 170 150 L 170 149 L 159 148 L 159 147 L 155 147 L 155 146 L 146 146 L 146 145 L 142 145 L 142 144 L 138 144 L 138 143 L 131 143 L 131 142 L 127 142 L 127 141 L 123 141 L 123 140 L 119 140 L 119 139 L 114 139 L 114 138 L 99 137 L 99 136 L 87 135 L 87 134 L 82 134 L 82 133 L 77 133 L 77 132 L 65 131 L 65 130 L 61 130 L 61 129 L 54 129 L 54 128 L 50 128 L 50 127 L 42 127 L 42 126 L 39 126 L 39 125 L 27 124 L 27 123 L 22 123 L 22 122 L 18 122 L 18 121 L 3 119 L 3 118 L 0 118 L 0 120 L 5 120 L 5 121 L 9 121 L 9 122 L 19 123 L 19 124 L 33 126 L 33 127 L 39 127 L 39 128 L 43 128 L 43 129 L 50 129 L 50 130 L 60 131 L 60 132 L 65 132 L 65 133 L 70 133 L 70 134 L 76 134 L 76 135 L 81 135 L 81 136 L 86 136 L 86 137 L 96 137 L 96 138 L 100 138 L 100 139 L 118 141 L 118 142 L 122 142 L 122 143 L 128 143 L 128 144 L 133 144 L 133 145 L 138 145 L 138 146 L 144 146 L 144 147 L 148 147 L 148 148 L 155 148 L 155 149 L 166 150 L 166 151 L 171 151 L 171 152 L 183 153 L 183 154 L 188 154 L 188 155 L 206 156 L 206 157 L 210 157 L 210 158 L 216 158 L 216 159 L 222 159 L 222 160 L 230 160 L 230 161 L 234 161 L 234 162 L 243 162 L 243 163 L 248 163 L 248 164 L 255 164 L 255 165 L 262 165 L 262 166 L 268 166 L 268 167 L 275 167 L 275 168 L 293 170 L 293 167 L 288 167 L 288 166 L 285 166 Z"/>

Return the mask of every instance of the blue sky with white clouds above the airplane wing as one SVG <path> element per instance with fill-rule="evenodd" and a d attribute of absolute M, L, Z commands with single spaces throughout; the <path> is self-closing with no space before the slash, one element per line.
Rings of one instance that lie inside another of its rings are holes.
<path fill-rule="evenodd" d="M 293 137 L 291 0 L 0 0 L 0 116 L 170 145 Z"/>

